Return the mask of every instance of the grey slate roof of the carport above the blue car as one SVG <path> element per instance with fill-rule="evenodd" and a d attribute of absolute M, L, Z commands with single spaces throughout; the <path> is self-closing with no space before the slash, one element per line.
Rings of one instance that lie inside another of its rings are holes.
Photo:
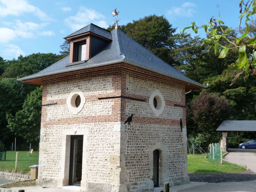
<path fill-rule="evenodd" d="M 223 121 L 216 131 L 256 132 L 256 121 Z"/>

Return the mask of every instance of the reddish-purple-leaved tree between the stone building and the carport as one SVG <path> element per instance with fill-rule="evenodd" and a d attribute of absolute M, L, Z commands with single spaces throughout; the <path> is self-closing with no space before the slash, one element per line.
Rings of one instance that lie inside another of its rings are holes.
<path fill-rule="evenodd" d="M 220 136 L 216 129 L 232 111 L 228 100 L 224 96 L 203 91 L 194 97 L 189 106 L 188 135 L 197 136 L 198 133 L 203 133 L 207 143 L 218 142 Z"/>

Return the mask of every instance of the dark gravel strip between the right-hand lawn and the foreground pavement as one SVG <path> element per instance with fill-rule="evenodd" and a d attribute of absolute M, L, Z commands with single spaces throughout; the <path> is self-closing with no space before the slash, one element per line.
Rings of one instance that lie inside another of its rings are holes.
<path fill-rule="evenodd" d="M 238 182 L 256 180 L 256 173 L 245 171 L 241 173 L 188 173 L 190 181 L 207 182 L 207 183 L 222 183 L 222 182 Z"/>

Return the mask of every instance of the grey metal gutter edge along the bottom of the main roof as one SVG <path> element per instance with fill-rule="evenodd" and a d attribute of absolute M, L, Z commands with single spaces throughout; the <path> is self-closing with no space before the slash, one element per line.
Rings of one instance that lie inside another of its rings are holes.
<path fill-rule="evenodd" d="M 174 79 L 177 79 L 177 80 L 186 82 L 186 83 L 188 83 L 188 84 L 193 84 L 193 85 L 195 85 L 196 87 L 198 87 L 199 89 L 207 88 L 207 86 L 205 86 L 205 85 L 203 85 L 203 84 L 195 83 L 195 82 L 192 82 L 192 81 L 188 81 L 187 79 L 183 79 L 183 78 L 176 77 L 176 76 L 173 76 L 173 75 L 170 75 L 170 74 L 166 74 L 166 73 L 161 72 L 161 71 L 158 71 L 158 70 L 156 70 L 156 69 L 148 68 L 148 67 L 145 67 L 145 66 L 143 66 L 143 65 L 140 65 L 140 64 L 138 64 L 138 63 L 135 63 L 135 62 L 132 62 L 132 61 L 129 61 L 129 60 L 125 60 L 125 59 L 107 61 L 107 62 L 97 63 L 97 64 L 93 64 L 93 65 L 89 65 L 89 66 L 83 66 L 83 67 L 69 68 L 69 69 L 60 70 L 60 71 L 55 71 L 55 72 L 51 72 L 51 73 L 40 74 L 40 75 L 36 75 L 36 76 L 33 76 L 33 77 L 23 77 L 23 78 L 20 78 L 20 79 L 17 79 L 17 80 L 18 80 L 18 81 L 21 81 L 21 82 L 25 82 L 25 81 L 27 81 L 27 80 L 36 79 L 36 78 L 39 78 L 39 77 L 50 76 L 50 75 L 55 75 L 55 74 L 60 74 L 60 73 L 65 73 L 65 72 L 70 72 L 70 71 L 76 71 L 76 70 L 86 69 L 86 68 L 100 67 L 100 66 L 104 66 L 104 65 L 110 65 L 110 64 L 115 64 L 115 63 L 122 63 L 122 62 L 131 64 L 131 65 L 134 65 L 134 66 L 139 67 L 139 68 L 144 68 L 144 69 L 147 69 L 147 70 L 149 70 L 149 71 L 152 71 L 152 72 L 155 72 L 155 73 L 164 75 L 164 76 L 169 76 L 169 77 L 172 77 L 172 78 L 174 78 Z"/>

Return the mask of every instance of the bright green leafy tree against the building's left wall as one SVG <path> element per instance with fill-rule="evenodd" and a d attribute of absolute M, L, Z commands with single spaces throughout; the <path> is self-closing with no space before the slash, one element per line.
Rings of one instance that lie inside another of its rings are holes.
<path fill-rule="evenodd" d="M 7 127 L 27 140 L 27 142 L 37 141 L 40 136 L 40 118 L 42 105 L 42 86 L 36 87 L 28 94 L 22 109 L 15 116 L 7 114 Z"/>

